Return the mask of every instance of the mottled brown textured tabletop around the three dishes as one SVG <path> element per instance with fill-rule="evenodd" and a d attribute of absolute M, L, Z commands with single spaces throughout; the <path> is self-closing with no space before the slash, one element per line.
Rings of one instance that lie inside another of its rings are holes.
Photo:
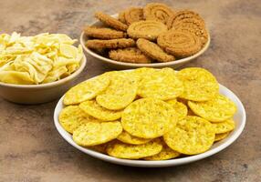
<path fill-rule="evenodd" d="M 115 14 L 128 0 L 1 0 L 0 32 L 35 35 L 66 33 L 78 38 L 83 25 L 102 10 Z M 245 130 L 233 145 L 213 157 L 180 167 L 135 168 L 102 162 L 79 152 L 53 125 L 57 101 L 19 106 L 0 98 L 0 181 L 260 181 L 261 180 L 261 3 L 259 0 L 162 1 L 192 8 L 204 16 L 212 43 L 204 56 L 187 66 L 203 66 L 239 96 L 246 109 Z M 78 79 L 109 70 L 88 56 Z"/>

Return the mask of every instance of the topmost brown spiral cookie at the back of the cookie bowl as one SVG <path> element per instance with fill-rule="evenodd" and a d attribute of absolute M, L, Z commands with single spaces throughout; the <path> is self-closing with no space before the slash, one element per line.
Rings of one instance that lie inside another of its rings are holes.
<path fill-rule="evenodd" d="M 170 16 L 174 15 L 172 8 L 161 3 L 149 3 L 144 7 L 146 20 L 156 20 L 167 24 Z"/>

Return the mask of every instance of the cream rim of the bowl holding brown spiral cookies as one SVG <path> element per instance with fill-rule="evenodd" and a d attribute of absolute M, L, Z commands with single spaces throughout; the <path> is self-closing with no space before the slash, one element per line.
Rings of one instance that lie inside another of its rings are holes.
<path fill-rule="evenodd" d="M 119 14 L 114 14 L 111 15 L 112 17 L 117 17 Z M 95 21 L 90 25 L 94 25 L 99 23 L 99 21 Z M 107 58 L 105 56 L 100 56 L 99 54 L 95 53 L 94 51 L 92 51 L 91 49 L 89 49 L 86 45 L 85 45 L 85 33 L 84 31 L 81 32 L 80 34 L 80 45 L 82 45 L 83 49 L 90 55 L 90 56 L 94 56 L 96 58 L 98 58 L 99 60 L 105 61 L 107 63 L 110 64 L 114 64 L 114 65 L 118 65 L 118 66 L 132 66 L 132 67 L 157 67 L 157 66 L 174 66 L 174 65 L 180 65 L 183 63 L 186 63 L 190 60 L 193 60 L 194 58 L 201 56 L 202 54 L 204 54 L 204 52 L 208 49 L 210 42 L 211 42 L 211 37 L 209 34 L 209 31 L 207 30 L 207 42 L 205 43 L 204 47 L 197 52 L 196 54 L 194 54 L 193 56 L 188 56 L 182 59 L 178 59 L 175 61 L 171 61 L 171 62 L 166 62 L 166 63 L 152 63 L 152 64 L 137 64 L 137 63 L 127 63 L 127 62 L 120 62 L 120 61 L 115 61 L 113 59 Z"/>

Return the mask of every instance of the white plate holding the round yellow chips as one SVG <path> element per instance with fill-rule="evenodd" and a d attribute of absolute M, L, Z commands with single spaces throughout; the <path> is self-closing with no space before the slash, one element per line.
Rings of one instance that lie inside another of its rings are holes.
<path fill-rule="evenodd" d="M 78 146 L 72 139 L 72 136 L 64 130 L 64 128 L 59 124 L 58 121 L 58 115 L 60 111 L 65 107 L 63 105 L 63 97 L 60 98 L 60 100 L 57 103 L 57 106 L 55 108 L 54 113 L 54 122 L 55 126 L 57 127 L 58 133 L 73 147 L 78 148 L 78 150 L 88 154 L 91 157 L 96 157 L 104 161 L 108 161 L 110 163 L 124 165 L 124 166 L 131 166 L 131 167 L 171 167 L 171 166 L 178 166 L 183 165 L 187 163 L 191 163 L 196 160 L 203 159 L 205 157 L 210 157 L 221 150 L 223 150 L 225 147 L 230 146 L 233 142 L 235 142 L 235 139 L 240 136 L 242 133 L 244 127 L 245 127 L 245 108 L 239 98 L 235 96 L 235 94 L 230 91 L 225 86 L 220 86 L 220 93 L 224 96 L 227 96 L 230 98 L 235 105 L 237 106 L 237 111 L 235 113 L 234 119 L 235 119 L 235 130 L 229 134 L 226 138 L 223 140 L 214 143 L 213 147 L 211 147 L 208 151 L 204 152 L 203 154 L 194 155 L 190 157 L 183 157 L 183 158 L 175 158 L 170 160 L 162 160 L 162 161 L 145 161 L 145 160 L 129 160 L 129 159 L 120 159 L 115 157 L 110 157 L 105 154 L 101 154 L 99 152 L 90 150 L 85 147 Z M 236 151 L 235 151 L 236 152 Z"/>

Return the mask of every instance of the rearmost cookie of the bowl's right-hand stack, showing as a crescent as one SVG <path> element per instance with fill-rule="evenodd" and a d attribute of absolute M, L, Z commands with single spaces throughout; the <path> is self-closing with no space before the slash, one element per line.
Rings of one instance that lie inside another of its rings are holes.
<path fill-rule="evenodd" d="M 178 24 L 180 21 L 183 21 L 185 19 L 197 19 L 197 21 L 200 21 L 201 24 L 204 25 L 204 19 L 200 15 L 191 10 L 182 10 L 172 15 L 168 19 L 167 26 L 169 29 L 171 29 L 172 27 L 175 27 L 175 25 Z"/>

